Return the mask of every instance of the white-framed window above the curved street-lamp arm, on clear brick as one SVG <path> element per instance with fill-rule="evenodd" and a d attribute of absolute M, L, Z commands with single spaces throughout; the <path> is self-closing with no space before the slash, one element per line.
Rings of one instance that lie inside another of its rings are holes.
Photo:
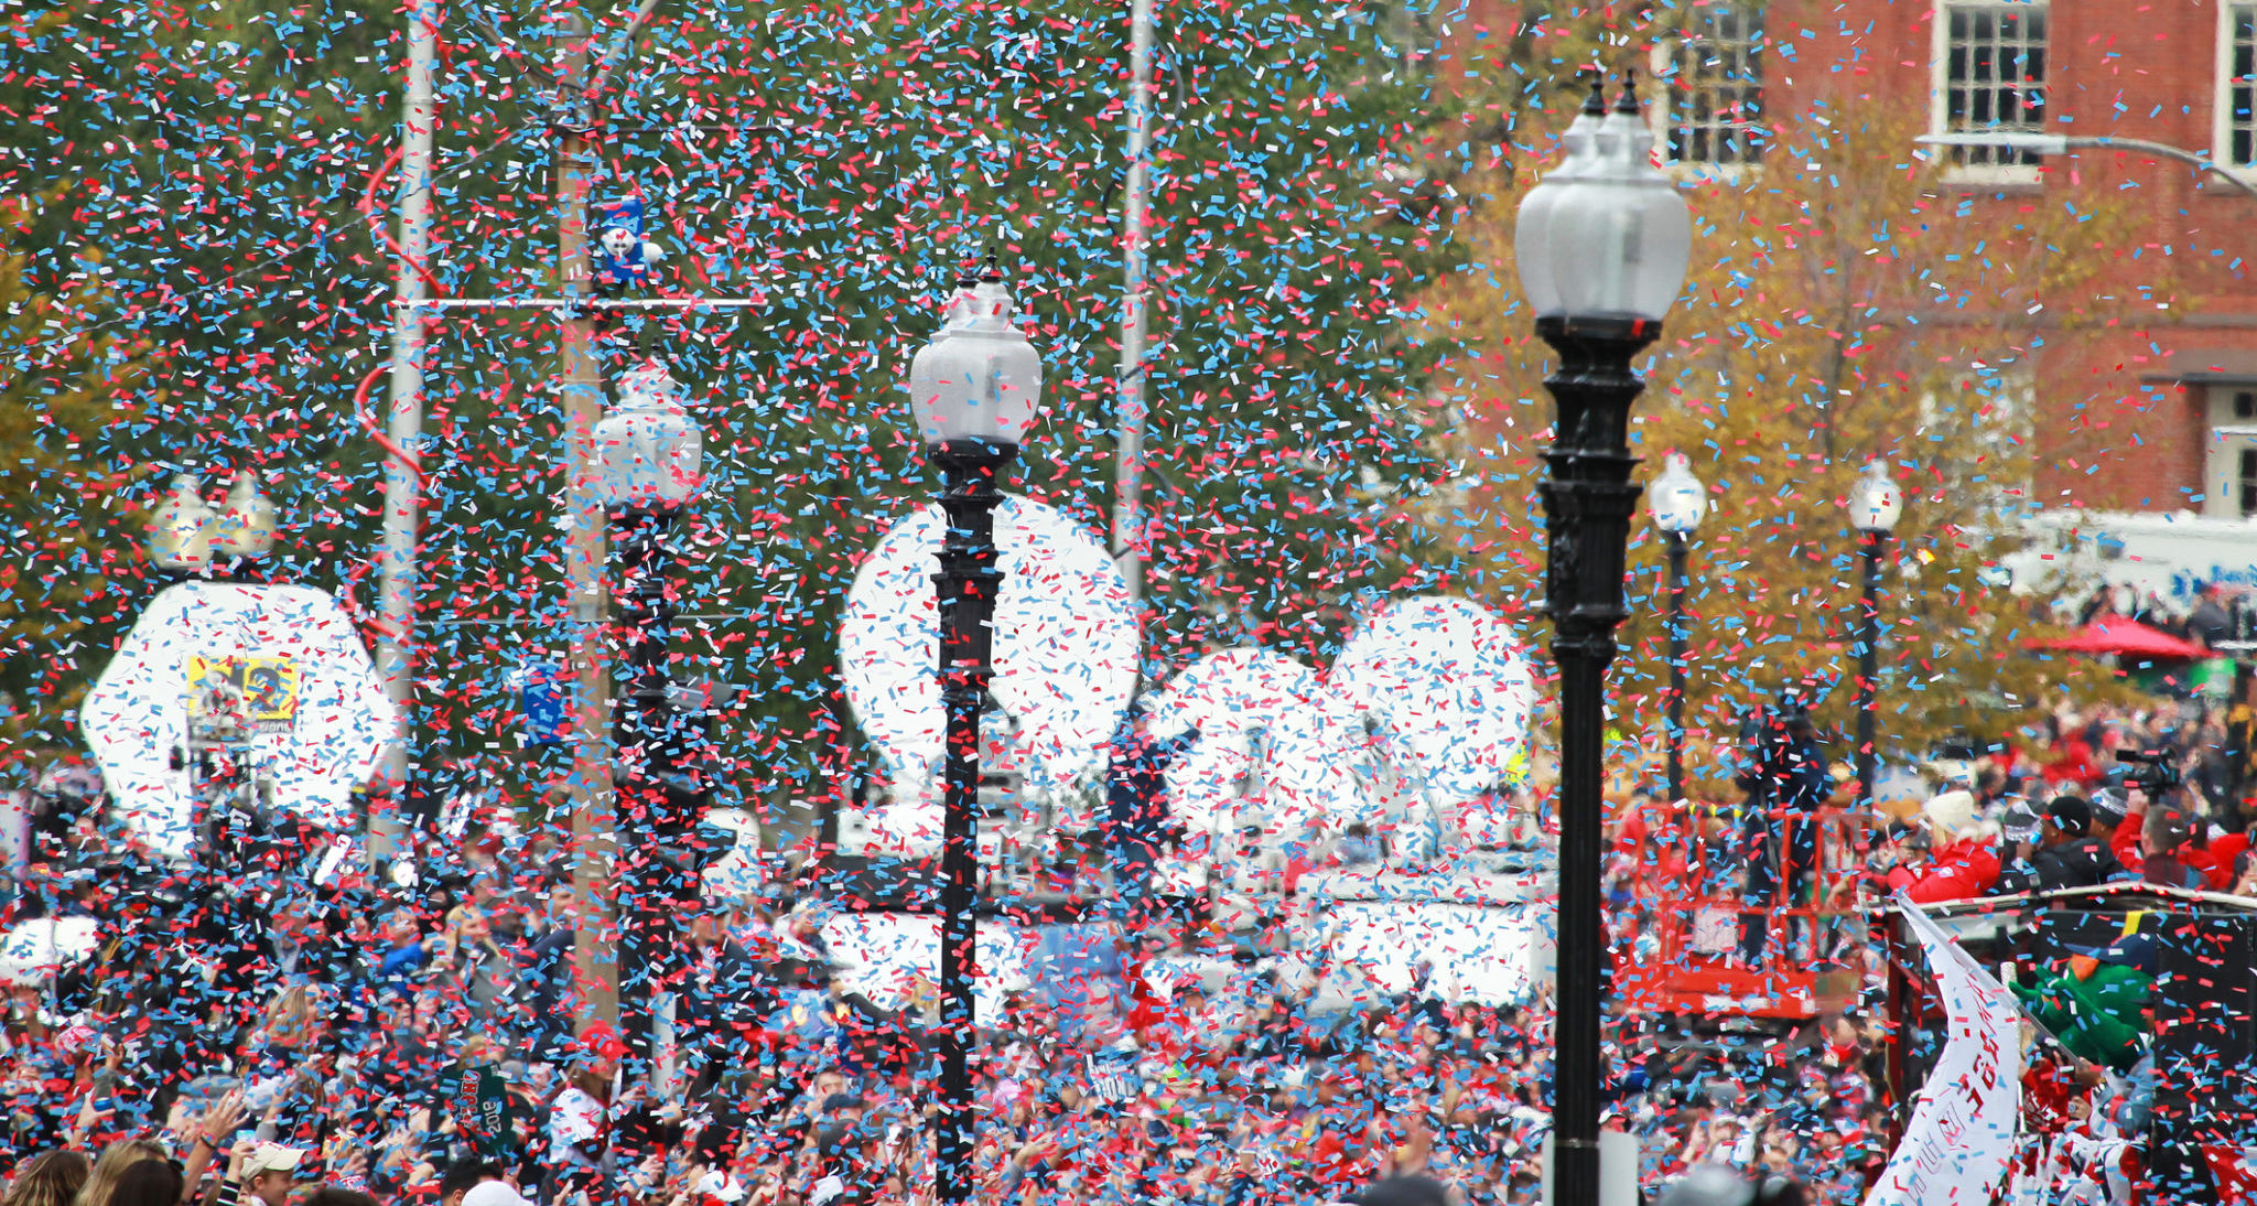
<path fill-rule="evenodd" d="M 1937 133 L 2043 133 L 2047 0 L 1937 0 L 1932 113 Z M 2038 178 L 2027 151 L 1950 151 L 1952 178 L 2025 183 Z"/>

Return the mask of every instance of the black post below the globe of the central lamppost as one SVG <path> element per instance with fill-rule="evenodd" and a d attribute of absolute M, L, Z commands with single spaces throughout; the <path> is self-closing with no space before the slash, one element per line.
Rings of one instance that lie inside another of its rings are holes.
<path fill-rule="evenodd" d="M 1018 449 L 986 440 L 946 440 L 930 449 L 941 467 L 948 538 L 932 576 L 941 605 L 941 700 L 948 709 L 946 790 L 941 795 L 941 1131 L 934 1179 L 941 1206 L 973 1197 L 973 1082 L 966 1055 L 973 1030 L 973 874 L 980 797 L 980 709 L 993 666 L 995 474 Z"/>

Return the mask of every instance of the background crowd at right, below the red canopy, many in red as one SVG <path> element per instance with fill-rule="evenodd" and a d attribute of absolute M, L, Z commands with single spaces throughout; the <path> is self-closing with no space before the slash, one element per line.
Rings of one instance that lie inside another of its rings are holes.
<path fill-rule="evenodd" d="M 1636 795 L 1614 815 L 1609 883 L 1632 917 L 1686 897 L 1848 908 L 1898 890 L 1921 903 L 2122 881 L 2257 890 L 2248 705 L 2061 709 L 1927 761 L 1925 790 L 1871 815 L 1853 813 L 1851 768 L 1799 734 L 1781 736 L 1776 772 L 1742 777 L 1742 799 Z M 1756 779 L 1776 786 L 1758 793 Z"/>

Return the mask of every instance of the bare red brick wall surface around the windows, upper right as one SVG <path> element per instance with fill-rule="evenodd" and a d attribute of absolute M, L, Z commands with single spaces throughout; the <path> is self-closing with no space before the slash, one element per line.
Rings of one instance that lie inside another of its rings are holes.
<path fill-rule="evenodd" d="M 1510 36 L 1517 9 L 1469 5 L 1451 25 L 1444 81 L 1474 45 Z M 1772 117 L 1925 108 L 1934 9 L 1934 0 L 1772 0 Z M 1632 45 L 1641 36 L 1650 41 L 1650 29 L 1634 32 Z M 2216 45 L 2216 0 L 2052 0 L 2047 129 L 2207 151 Z M 2241 262 L 2257 260 L 2257 199 L 2216 181 L 2198 185 L 2171 160 L 2081 151 L 2045 160 L 2034 185 L 1968 192 L 1957 221 L 1997 226 L 2004 239 L 2031 206 L 2090 210 L 2104 196 L 2135 196 L 2144 230 L 2101 264 L 2110 309 L 2076 314 L 2072 327 L 2040 325 L 2036 490 L 2047 506 L 2198 510 L 2205 397 L 2158 377 L 2216 352 L 2257 366 L 2257 285 Z"/>

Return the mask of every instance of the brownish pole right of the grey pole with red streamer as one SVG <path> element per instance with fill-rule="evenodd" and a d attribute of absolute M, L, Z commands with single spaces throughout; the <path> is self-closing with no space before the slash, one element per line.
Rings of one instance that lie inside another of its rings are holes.
<path fill-rule="evenodd" d="M 557 108 L 555 108 L 555 185 L 557 185 L 557 289 L 567 303 L 557 332 L 562 359 L 564 438 L 564 515 L 567 533 L 564 589 L 571 608 L 573 671 L 573 763 L 567 793 L 571 799 L 571 833 L 578 863 L 573 897 L 580 917 L 573 933 L 573 971 L 591 1016 L 582 1021 L 616 1021 L 618 960 L 607 933 L 603 901 L 612 842 L 612 734 L 609 680 L 603 666 L 605 644 L 605 515 L 596 492 L 596 422 L 603 420 L 603 370 L 596 364 L 596 321 L 576 303 L 589 296 L 587 260 L 587 190 L 589 131 L 596 124 L 587 97 L 587 23 L 578 11 L 555 14 Z"/>

